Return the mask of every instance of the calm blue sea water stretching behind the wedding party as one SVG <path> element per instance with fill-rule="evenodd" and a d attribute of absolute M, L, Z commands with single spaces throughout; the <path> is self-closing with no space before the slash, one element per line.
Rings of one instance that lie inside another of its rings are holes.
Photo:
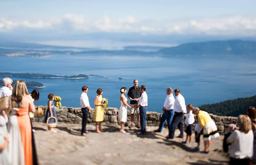
<path fill-rule="evenodd" d="M 179 88 L 186 104 L 194 106 L 256 94 L 256 60 L 241 56 L 171 58 L 63 54 L 36 58 L 0 56 L 0 59 L 0 72 L 104 76 L 77 80 L 11 77 L 38 81 L 46 86 L 38 89 L 40 100 L 36 105 L 46 105 L 47 95 L 54 93 L 62 98 L 63 106 L 80 107 L 81 87 L 86 85 L 92 108 L 97 88 L 103 89 L 103 97 L 108 98 L 110 107 L 119 108 L 120 88 L 129 89 L 133 79 L 147 86 L 148 110 L 157 112 L 162 111 L 167 87 Z"/>

